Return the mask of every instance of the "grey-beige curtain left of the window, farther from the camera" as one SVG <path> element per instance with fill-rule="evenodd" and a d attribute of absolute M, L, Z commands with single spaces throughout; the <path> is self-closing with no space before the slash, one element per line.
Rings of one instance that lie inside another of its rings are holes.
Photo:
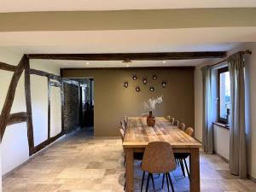
<path fill-rule="evenodd" d="M 203 146 L 207 154 L 213 153 L 212 129 L 212 69 L 209 66 L 201 68 L 203 80 Z"/>

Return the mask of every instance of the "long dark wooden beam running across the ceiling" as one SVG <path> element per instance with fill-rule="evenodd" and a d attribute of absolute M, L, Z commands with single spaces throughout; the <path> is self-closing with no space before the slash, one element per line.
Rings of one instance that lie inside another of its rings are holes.
<path fill-rule="evenodd" d="M 224 58 L 225 51 L 165 52 L 165 53 L 113 53 L 113 54 L 29 54 L 29 59 L 73 60 L 73 61 L 136 61 L 147 60 L 193 60 Z"/>

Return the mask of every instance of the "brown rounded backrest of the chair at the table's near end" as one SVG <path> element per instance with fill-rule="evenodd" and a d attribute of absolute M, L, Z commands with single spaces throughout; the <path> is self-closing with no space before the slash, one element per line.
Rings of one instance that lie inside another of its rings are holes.
<path fill-rule="evenodd" d="M 166 173 L 175 170 L 175 168 L 176 163 L 170 143 L 148 143 L 143 154 L 142 170 L 144 172 Z"/>

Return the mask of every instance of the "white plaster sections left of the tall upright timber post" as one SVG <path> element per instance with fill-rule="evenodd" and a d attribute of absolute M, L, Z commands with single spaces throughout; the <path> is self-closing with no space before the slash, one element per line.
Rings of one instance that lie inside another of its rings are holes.
<path fill-rule="evenodd" d="M 0 61 L 7 62 L 12 65 L 17 65 L 22 57 L 22 54 L 12 53 L 5 49 L 0 49 Z M 0 70 L 0 109 L 3 108 L 3 103 L 7 91 L 9 89 L 9 83 L 13 73 Z M 17 113 L 26 111 L 25 104 L 25 90 L 24 90 L 24 73 L 20 77 L 18 83 L 13 108 L 11 113 Z M 19 166 L 21 163 L 28 159 L 28 144 L 26 138 L 26 123 L 20 123 L 16 125 L 9 125 L 6 127 L 3 141 L 1 143 L 1 165 L 2 174 L 9 172 L 15 166 Z"/>

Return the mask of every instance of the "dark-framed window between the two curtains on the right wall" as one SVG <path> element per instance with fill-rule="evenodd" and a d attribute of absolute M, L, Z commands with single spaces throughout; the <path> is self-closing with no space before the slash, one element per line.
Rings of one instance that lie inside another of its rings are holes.
<path fill-rule="evenodd" d="M 229 123 L 230 115 L 230 72 L 228 67 L 218 69 L 218 121 Z"/>

